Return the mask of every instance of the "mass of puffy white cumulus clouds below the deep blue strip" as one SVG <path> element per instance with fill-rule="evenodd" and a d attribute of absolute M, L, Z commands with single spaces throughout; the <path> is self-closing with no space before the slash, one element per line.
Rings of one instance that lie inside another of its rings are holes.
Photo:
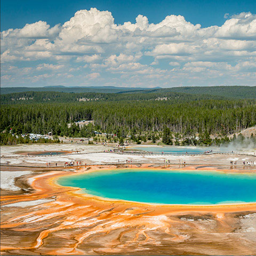
<path fill-rule="evenodd" d="M 69 85 L 83 85 L 85 77 L 99 85 L 256 85 L 256 15 L 226 13 L 225 19 L 206 28 L 173 14 L 159 23 L 138 15 L 135 22 L 116 24 L 111 12 L 91 8 L 62 25 L 39 20 L 1 32 L 1 81 L 43 85 L 68 78 Z"/>

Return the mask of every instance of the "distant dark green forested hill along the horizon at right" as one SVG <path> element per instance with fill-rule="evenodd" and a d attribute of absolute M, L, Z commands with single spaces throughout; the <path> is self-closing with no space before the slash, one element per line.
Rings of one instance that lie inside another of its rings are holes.
<path fill-rule="evenodd" d="M 166 89 L 151 89 L 134 91 L 132 93 L 188 93 L 208 94 L 230 99 L 256 99 L 256 86 L 201 86 L 201 87 L 172 87 Z M 123 93 L 123 92 L 119 92 Z M 131 92 L 130 92 L 131 93 Z"/>

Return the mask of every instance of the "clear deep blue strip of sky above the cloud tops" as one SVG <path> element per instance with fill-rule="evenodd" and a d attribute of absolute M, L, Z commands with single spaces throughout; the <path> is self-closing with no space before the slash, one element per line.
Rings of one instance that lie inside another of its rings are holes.
<path fill-rule="evenodd" d="M 82 9 L 96 7 L 100 11 L 112 13 L 117 24 L 135 21 L 139 15 L 148 17 L 149 22 L 158 23 L 167 15 L 182 15 L 191 23 L 200 23 L 202 27 L 218 25 L 225 21 L 225 13 L 230 15 L 241 12 L 256 13 L 253 0 L 170 0 L 170 1 L 99 1 L 99 0 L 15 0 L 1 1 L 1 31 L 9 28 L 22 28 L 26 23 L 44 20 L 51 26 L 63 23 Z"/>

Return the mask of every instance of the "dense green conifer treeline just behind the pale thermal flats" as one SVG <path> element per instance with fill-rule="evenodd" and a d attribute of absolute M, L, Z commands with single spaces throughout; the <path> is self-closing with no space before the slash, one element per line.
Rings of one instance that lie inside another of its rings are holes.
<path fill-rule="evenodd" d="M 93 120 L 79 127 L 74 122 Z M 70 127 L 68 124 L 71 124 Z M 155 140 L 167 127 L 171 133 L 189 137 L 196 133 L 223 136 L 256 125 L 255 100 L 193 101 L 86 101 L 2 105 L 0 131 L 13 134 L 52 132 L 68 137 L 92 137 L 94 131 Z M 144 137 L 145 138 L 144 138 Z M 147 138 L 146 138 L 147 137 Z"/>

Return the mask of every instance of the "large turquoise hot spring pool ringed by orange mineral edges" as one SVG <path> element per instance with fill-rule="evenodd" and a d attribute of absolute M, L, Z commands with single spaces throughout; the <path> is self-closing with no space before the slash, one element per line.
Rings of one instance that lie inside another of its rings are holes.
<path fill-rule="evenodd" d="M 256 174 L 110 170 L 61 177 L 62 186 L 113 199 L 158 204 L 256 202 Z"/>

